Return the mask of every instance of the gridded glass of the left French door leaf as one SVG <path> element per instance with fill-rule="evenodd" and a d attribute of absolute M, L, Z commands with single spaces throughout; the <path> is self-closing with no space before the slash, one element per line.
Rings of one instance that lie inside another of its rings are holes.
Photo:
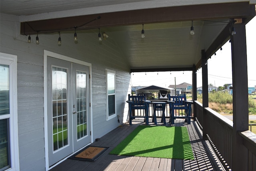
<path fill-rule="evenodd" d="M 66 89 L 67 70 L 52 67 L 52 137 L 54 150 L 68 145 Z"/>

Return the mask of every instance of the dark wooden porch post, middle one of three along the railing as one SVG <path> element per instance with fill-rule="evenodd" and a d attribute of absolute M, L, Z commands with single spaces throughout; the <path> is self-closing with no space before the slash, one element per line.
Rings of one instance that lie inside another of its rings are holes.
<path fill-rule="evenodd" d="M 205 51 L 201 51 L 202 54 L 202 96 L 203 96 L 203 138 L 207 139 L 206 134 L 208 130 L 207 126 L 207 114 L 204 110 L 205 107 L 208 107 L 208 67 Z"/>

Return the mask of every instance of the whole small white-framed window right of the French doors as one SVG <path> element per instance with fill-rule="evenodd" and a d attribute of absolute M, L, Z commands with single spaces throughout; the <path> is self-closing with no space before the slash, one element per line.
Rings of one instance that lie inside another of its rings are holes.
<path fill-rule="evenodd" d="M 116 116 L 116 72 L 106 70 L 107 120 Z"/>

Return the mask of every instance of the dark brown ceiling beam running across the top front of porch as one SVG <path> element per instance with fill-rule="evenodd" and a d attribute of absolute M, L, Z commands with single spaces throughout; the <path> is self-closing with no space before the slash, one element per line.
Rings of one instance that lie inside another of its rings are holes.
<path fill-rule="evenodd" d="M 254 15 L 255 5 L 248 2 L 173 6 L 22 22 L 20 34 L 69 31 L 75 27 L 77 30 L 86 30 L 158 22 L 246 18 Z M 96 20 L 99 16 L 101 18 Z"/>

